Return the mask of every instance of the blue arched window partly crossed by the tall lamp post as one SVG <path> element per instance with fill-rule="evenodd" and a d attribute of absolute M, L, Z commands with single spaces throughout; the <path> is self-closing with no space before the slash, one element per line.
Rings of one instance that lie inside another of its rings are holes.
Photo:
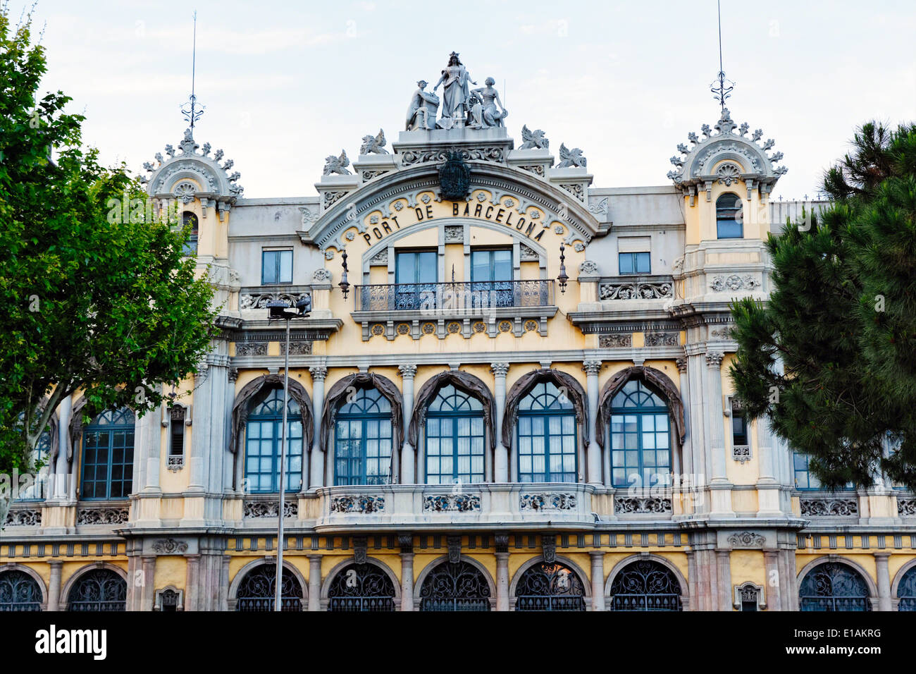
<path fill-rule="evenodd" d="M 278 493 L 280 445 L 283 441 L 283 390 L 271 389 L 267 398 L 253 399 L 245 424 L 245 485 L 250 493 Z M 289 396 L 287 405 L 286 491 L 302 485 L 302 414 Z"/>

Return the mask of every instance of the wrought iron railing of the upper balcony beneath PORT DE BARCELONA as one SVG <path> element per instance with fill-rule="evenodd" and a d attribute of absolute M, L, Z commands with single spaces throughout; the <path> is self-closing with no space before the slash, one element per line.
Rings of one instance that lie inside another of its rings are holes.
<path fill-rule="evenodd" d="M 357 311 L 474 311 L 551 306 L 553 281 L 385 283 L 356 287 Z"/>

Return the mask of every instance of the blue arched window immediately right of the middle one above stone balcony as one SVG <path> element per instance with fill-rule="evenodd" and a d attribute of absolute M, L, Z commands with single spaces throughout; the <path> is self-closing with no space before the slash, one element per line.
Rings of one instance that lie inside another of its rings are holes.
<path fill-rule="evenodd" d="M 518 481 L 576 481 L 573 403 L 552 381 L 540 381 L 518 403 Z"/>

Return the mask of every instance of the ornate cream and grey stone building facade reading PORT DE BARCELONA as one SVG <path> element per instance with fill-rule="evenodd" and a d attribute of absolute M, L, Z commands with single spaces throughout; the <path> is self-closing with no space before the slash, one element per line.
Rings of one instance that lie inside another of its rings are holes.
<path fill-rule="evenodd" d="M 729 301 L 794 215 L 773 141 L 723 109 L 668 184 L 598 187 L 469 81 L 454 54 L 310 198 L 245 198 L 190 131 L 145 165 L 220 334 L 155 413 L 61 403 L 0 610 L 269 610 L 280 516 L 291 611 L 916 609 L 913 495 L 821 491 L 732 395 Z M 304 296 L 281 485 L 267 303 Z"/>

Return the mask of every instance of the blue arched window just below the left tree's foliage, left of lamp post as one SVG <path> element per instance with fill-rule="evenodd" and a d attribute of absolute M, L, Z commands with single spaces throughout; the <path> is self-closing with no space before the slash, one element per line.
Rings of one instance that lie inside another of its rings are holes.
<path fill-rule="evenodd" d="M 83 499 L 125 499 L 134 480 L 134 411 L 108 410 L 86 427 L 82 440 Z"/>

